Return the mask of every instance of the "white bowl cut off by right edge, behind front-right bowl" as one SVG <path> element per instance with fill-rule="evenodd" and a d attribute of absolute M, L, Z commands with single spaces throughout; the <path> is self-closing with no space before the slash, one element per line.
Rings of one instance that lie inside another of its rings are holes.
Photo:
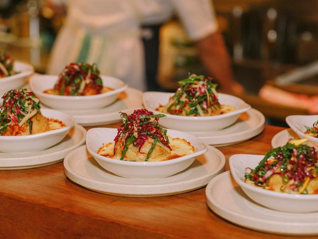
<path fill-rule="evenodd" d="M 312 127 L 318 120 L 318 115 L 290 115 L 286 117 L 286 123 L 292 130 L 301 138 L 308 138 L 315 144 L 318 144 L 318 138 L 305 134 L 306 128 L 304 126 Z"/>

